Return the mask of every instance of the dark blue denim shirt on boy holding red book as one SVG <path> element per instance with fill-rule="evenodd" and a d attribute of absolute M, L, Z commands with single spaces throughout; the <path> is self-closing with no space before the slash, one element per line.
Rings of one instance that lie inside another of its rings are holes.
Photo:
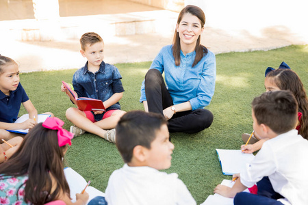
<path fill-rule="evenodd" d="M 101 62 L 99 70 L 95 73 L 88 71 L 88 61 L 73 75 L 73 87 L 80 97 L 94 98 L 103 102 L 113 94 L 124 92 L 122 76 L 116 66 Z M 106 110 L 120 109 L 120 103 L 108 107 Z"/>

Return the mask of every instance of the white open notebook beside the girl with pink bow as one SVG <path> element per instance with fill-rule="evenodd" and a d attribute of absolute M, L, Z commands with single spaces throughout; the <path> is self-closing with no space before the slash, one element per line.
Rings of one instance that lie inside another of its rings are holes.
<path fill-rule="evenodd" d="M 81 193 L 84 191 L 84 188 L 87 185 L 86 180 L 78 174 L 74 169 L 70 167 L 64 168 L 64 174 L 66 181 L 68 182 L 68 186 L 70 187 L 70 197 L 72 198 L 72 202 L 76 202 L 76 193 Z M 103 196 L 105 197 L 105 193 L 95 189 L 94 187 L 88 186 L 86 192 L 89 194 L 89 200 L 87 204 L 92 200 L 94 197 Z"/>

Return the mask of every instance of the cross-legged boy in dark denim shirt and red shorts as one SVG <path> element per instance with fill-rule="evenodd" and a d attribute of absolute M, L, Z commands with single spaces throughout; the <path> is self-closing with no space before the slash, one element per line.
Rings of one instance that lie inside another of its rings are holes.
<path fill-rule="evenodd" d="M 94 98 L 103 101 L 106 111 L 80 111 L 70 107 L 66 118 L 75 126 L 70 126 L 70 132 L 75 136 L 86 131 L 115 142 L 115 127 L 125 111 L 120 110 L 118 102 L 123 96 L 123 85 L 120 72 L 116 66 L 105 64 L 104 42 L 97 33 L 84 33 L 80 38 L 80 53 L 88 61 L 73 75 L 73 88 L 76 96 Z M 64 85 L 61 90 L 66 91 Z"/>

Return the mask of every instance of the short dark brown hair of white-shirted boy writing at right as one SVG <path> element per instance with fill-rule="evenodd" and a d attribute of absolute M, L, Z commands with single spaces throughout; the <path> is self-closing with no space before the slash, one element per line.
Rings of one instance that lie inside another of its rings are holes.
<path fill-rule="evenodd" d="M 291 131 L 297 123 L 297 102 L 288 90 L 270 91 L 253 99 L 257 124 L 269 126 L 274 133 Z"/>

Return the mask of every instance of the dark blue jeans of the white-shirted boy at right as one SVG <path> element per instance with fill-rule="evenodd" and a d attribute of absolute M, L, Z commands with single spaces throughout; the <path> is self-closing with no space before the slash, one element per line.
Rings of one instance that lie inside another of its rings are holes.
<path fill-rule="evenodd" d="M 274 191 L 268 176 L 265 176 L 259 182 L 257 182 L 257 187 L 257 195 L 247 192 L 237 193 L 234 197 L 234 205 L 283 205 L 281 202 L 277 201 L 278 199 L 283 198 L 283 196 Z"/>

